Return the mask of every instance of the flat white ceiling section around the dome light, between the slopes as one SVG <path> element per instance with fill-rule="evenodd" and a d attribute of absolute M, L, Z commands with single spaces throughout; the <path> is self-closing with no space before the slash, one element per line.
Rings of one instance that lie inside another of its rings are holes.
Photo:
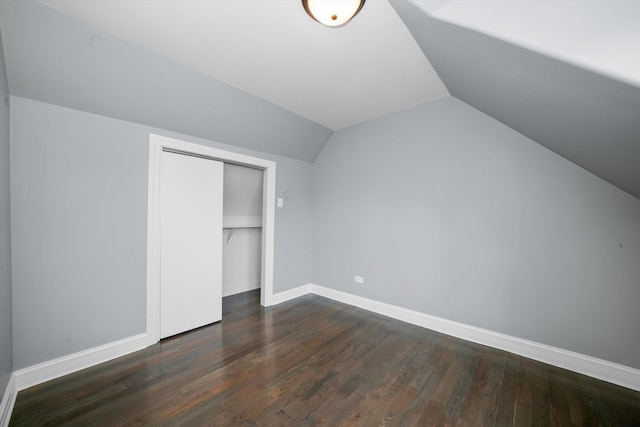
<path fill-rule="evenodd" d="M 299 0 L 40 0 L 338 130 L 449 95 L 387 0 L 327 28 Z"/>

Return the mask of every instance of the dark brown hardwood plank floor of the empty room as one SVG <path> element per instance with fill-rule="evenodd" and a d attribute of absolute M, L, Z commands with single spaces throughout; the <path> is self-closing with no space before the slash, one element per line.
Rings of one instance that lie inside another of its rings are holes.
<path fill-rule="evenodd" d="M 11 426 L 640 426 L 640 393 L 318 296 L 21 391 Z"/>

